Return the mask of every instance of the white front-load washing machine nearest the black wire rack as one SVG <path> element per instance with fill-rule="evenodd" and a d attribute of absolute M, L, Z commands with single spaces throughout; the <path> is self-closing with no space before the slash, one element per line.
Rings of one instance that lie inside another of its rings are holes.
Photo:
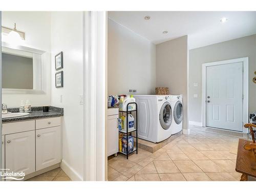
<path fill-rule="evenodd" d="M 160 142 L 172 135 L 170 95 L 134 95 L 138 106 L 138 138 Z"/>

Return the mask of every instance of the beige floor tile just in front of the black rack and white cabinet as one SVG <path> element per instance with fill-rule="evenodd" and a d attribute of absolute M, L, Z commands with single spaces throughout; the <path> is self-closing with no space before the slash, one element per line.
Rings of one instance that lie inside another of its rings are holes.
<path fill-rule="evenodd" d="M 112 161 L 111 161 L 112 160 Z M 112 168 L 114 168 L 115 170 L 117 170 L 119 173 L 123 173 L 126 172 L 126 170 L 128 170 L 129 168 L 131 168 L 132 166 L 134 166 L 136 163 L 130 161 L 130 160 L 126 160 L 126 159 L 121 159 L 121 158 L 114 158 L 111 159 L 109 161 L 109 166 L 111 166 Z"/>

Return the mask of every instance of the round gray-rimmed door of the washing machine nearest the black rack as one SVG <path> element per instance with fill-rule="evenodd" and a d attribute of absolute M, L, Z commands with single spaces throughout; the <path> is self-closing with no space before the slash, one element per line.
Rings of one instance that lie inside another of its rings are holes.
<path fill-rule="evenodd" d="M 159 119 L 163 129 L 169 129 L 170 124 L 172 124 L 173 121 L 173 112 L 169 102 L 163 103 L 163 106 L 160 110 Z"/>

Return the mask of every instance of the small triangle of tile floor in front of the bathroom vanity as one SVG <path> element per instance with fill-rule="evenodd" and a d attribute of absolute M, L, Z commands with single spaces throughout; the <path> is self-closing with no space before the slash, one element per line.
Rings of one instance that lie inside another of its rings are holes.
<path fill-rule="evenodd" d="M 32 177 L 26 181 L 71 181 L 65 172 L 59 167 L 44 174 Z"/>

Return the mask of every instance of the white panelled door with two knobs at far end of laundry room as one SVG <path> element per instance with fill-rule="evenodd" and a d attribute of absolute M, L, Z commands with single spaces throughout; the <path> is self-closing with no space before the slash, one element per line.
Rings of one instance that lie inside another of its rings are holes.
<path fill-rule="evenodd" d="M 206 67 L 206 126 L 242 132 L 243 62 Z"/>

